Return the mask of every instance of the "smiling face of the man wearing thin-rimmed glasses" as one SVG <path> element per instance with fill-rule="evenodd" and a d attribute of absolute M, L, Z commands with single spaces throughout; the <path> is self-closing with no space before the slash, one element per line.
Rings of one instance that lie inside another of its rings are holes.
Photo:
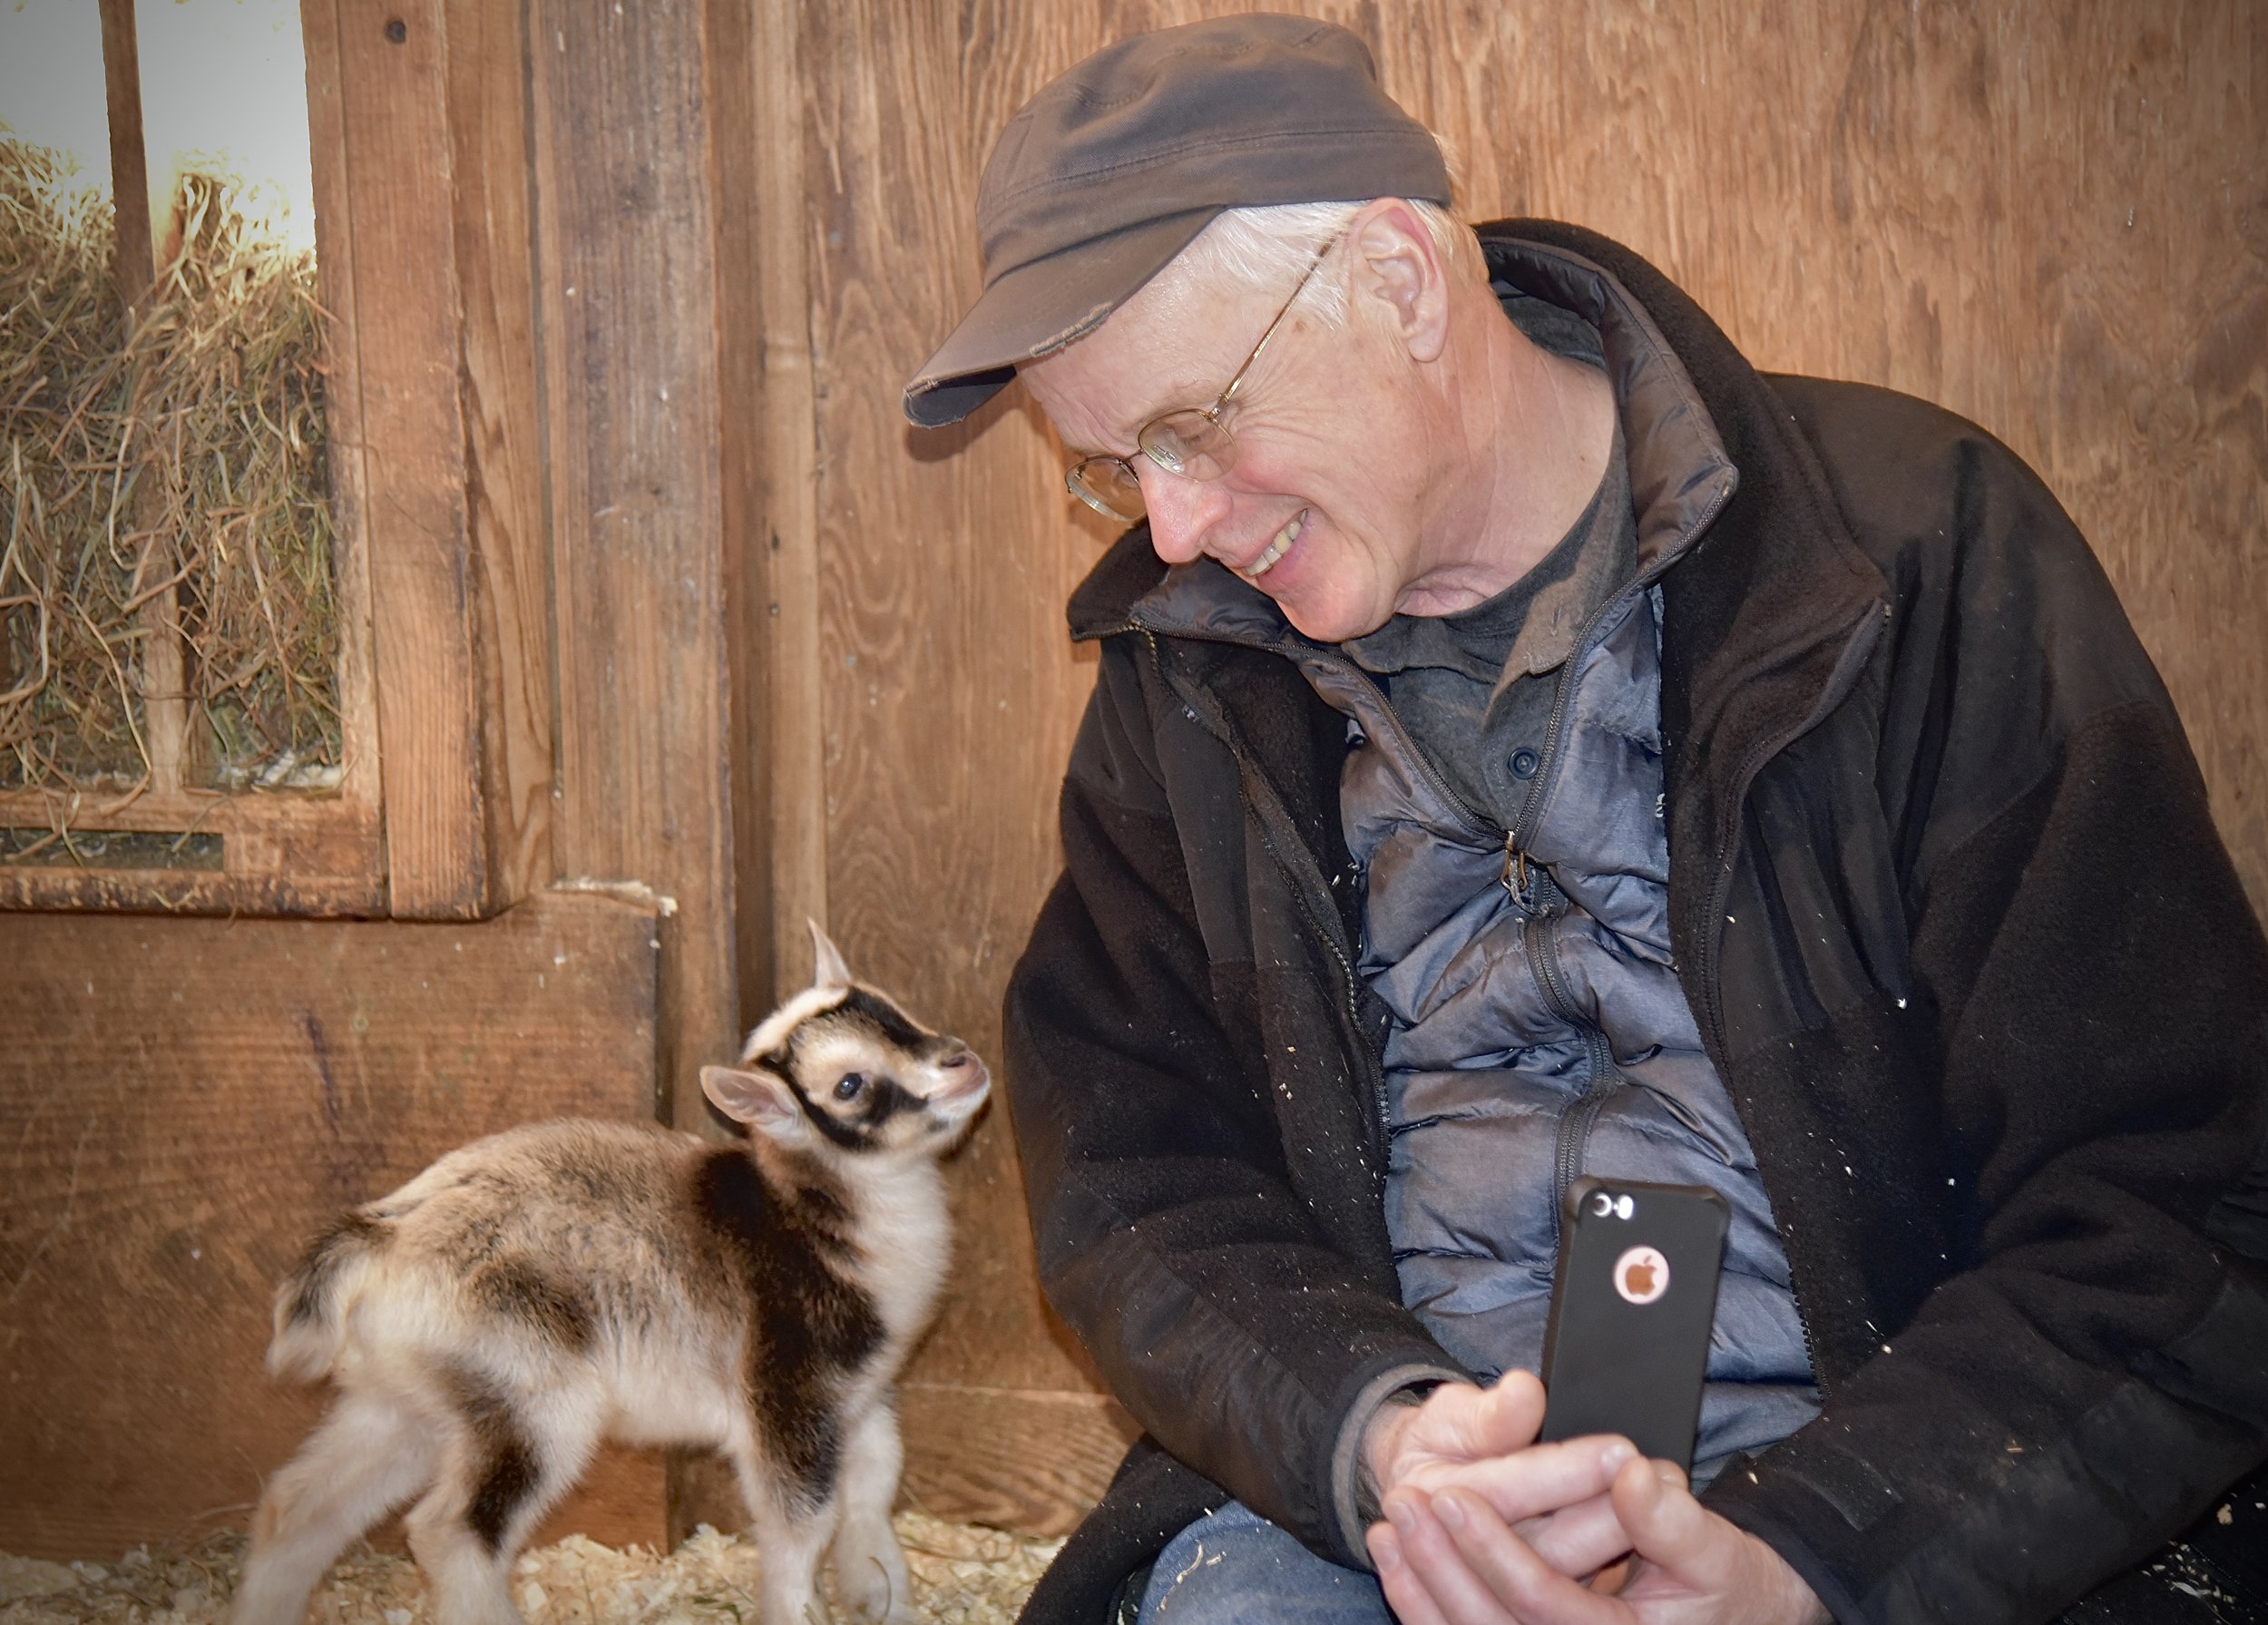
<path fill-rule="evenodd" d="M 1220 418 L 1236 436 L 1220 479 L 1168 474 L 1134 445 L 1152 418 L 1211 404 L 1286 293 L 1198 288 L 1168 266 L 1021 377 L 1073 456 L 1134 468 L 1159 558 L 1209 554 L 1309 638 L 1338 642 L 1422 599 L 1431 572 L 1422 517 L 1440 447 L 1427 445 L 1422 390 L 1390 331 L 1361 309 L 1331 329 L 1306 300 L 1293 306 Z"/>

